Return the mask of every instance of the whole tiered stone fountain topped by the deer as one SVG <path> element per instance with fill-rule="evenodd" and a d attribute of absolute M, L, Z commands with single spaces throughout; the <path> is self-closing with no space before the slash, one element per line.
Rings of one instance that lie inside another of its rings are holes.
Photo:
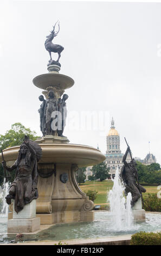
<path fill-rule="evenodd" d="M 51 42 L 55 35 L 57 34 L 54 26 L 51 34 L 47 36 L 46 50 L 50 57 L 51 52 L 57 52 L 60 58 L 63 47 Z M 65 100 L 68 98 L 67 96 L 65 96 L 66 98 L 63 97 L 63 95 L 65 95 L 66 89 L 74 85 L 74 80 L 59 73 L 61 69 L 59 58 L 57 61 L 50 59 L 47 68 L 49 72 L 38 75 L 33 80 L 36 87 L 43 89 L 42 94 L 44 95 L 39 97 L 42 101 L 39 110 L 42 137 L 36 142 L 42 149 L 42 157 L 37 163 L 38 198 L 34 200 L 36 202 L 36 216 L 34 217 L 40 221 L 41 225 L 94 220 L 94 203 L 81 191 L 75 179 L 75 172 L 79 167 L 93 166 L 105 160 L 105 155 L 100 150 L 87 145 L 70 144 L 69 139 L 62 135 L 66 119 L 64 114 L 66 113 Z M 53 109 L 51 109 L 51 103 L 54 106 Z M 57 115 L 53 114 L 54 111 L 57 111 Z M 59 113 L 63 113 L 63 117 L 60 118 Z M 60 126 L 59 124 L 54 125 L 55 117 L 58 117 L 57 123 L 60 121 Z M 57 128 L 58 126 L 59 128 Z M 20 150 L 20 146 L 3 150 L 7 166 L 11 166 L 15 162 L 18 150 Z M 0 161 L 2 161 L 1 154 Z M 33 202 L 25 205 L 25 207 L 34 207 L 31 204 Z M 40 229 L 40 225 L 37 224 L 34 228 L 34 224 L 30 223 L 30 228 L 19 227 L 17 230 L 16 224 L 13 225 L 12 223 L 19 223 L 25 217 L 20 216 L 21 212 L 15 214 L 12 204 L 10 211 L 14 213 L 9 212 L 8 215 L 8 233 L 23 231 L 28 233 Z M 17 217 L 18 215 L 20 217 Z M 29 218 L 31 219 L 33 216 L 30 215 Z M 13 222 L 15 220 L 17 222 Z M 24 221 L 22 225 L 23 223 Z"/>

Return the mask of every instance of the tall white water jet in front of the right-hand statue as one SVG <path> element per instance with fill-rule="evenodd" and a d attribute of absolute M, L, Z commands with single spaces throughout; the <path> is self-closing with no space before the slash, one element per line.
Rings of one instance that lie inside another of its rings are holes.
<path fill-rule="evenodd" d="M 129 230 L 133 227 L 132 197 L 131 193 L 128 193 L 125 199 L 124 191 L 125 187 L 120 180 L 120 172 L 117 168 L 113 180 L 113 188 L 108 193 L 113 228 L 115 230 Z"/>

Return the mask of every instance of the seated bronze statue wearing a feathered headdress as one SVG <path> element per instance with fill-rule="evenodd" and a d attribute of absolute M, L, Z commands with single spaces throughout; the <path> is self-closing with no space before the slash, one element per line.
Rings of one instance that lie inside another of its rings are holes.
<path fill-rule="evenodd" d="M 15 180 L 10 186 L 6 200 L 8 204 L 11 204 L 11 199 L 15 200 L 15 211 L 17 213 L 24 208 L 25 204 L 38 198 L 37 162 L 41 159 L 41 155 L 42 149 L 40 146 L 25 136 L 15 163 L 8 167 L 5 161 L 2 162 L 2 166 L 9 172 L 16 169 Z"/>

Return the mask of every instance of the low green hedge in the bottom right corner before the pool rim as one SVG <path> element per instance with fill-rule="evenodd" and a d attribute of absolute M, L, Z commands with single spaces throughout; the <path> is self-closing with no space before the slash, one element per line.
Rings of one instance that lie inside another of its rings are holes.
<path fill-rule="evenodd" d="M 140 231 L 131 236 L 130 245 L 161 245 L 161 232 Z"/>

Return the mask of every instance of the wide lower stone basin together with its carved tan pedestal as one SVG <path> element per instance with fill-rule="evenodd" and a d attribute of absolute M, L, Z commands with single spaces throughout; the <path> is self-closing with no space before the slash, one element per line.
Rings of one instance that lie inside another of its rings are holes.
<path fill-rule="evenodd" d="M 36 200 L 36 216 L 41 218 L 41 224 L 93 221 L 94 203 L 78 186 L 75 171 L 78 167 L 93 166 L 103 162 L 105 155 L 100 150 L 87 145 L 38 144 L 42 148 L 42 157 L 37 166 L 39 196 Z M 8 166 L 17 159 L 18 150 L 20 146 L 3 150 Z M 0 161 L 2 161 L 1 154 Z M 43 177 L 42 174 L 46 175 L 54 168 L 54 163 L 56 163 L 56 172 L 48 178 Z M 65 182 L 61 178 L 63 175 L 67 176 Z M 10 230 L 8 232 L 10 233 Z"/>

